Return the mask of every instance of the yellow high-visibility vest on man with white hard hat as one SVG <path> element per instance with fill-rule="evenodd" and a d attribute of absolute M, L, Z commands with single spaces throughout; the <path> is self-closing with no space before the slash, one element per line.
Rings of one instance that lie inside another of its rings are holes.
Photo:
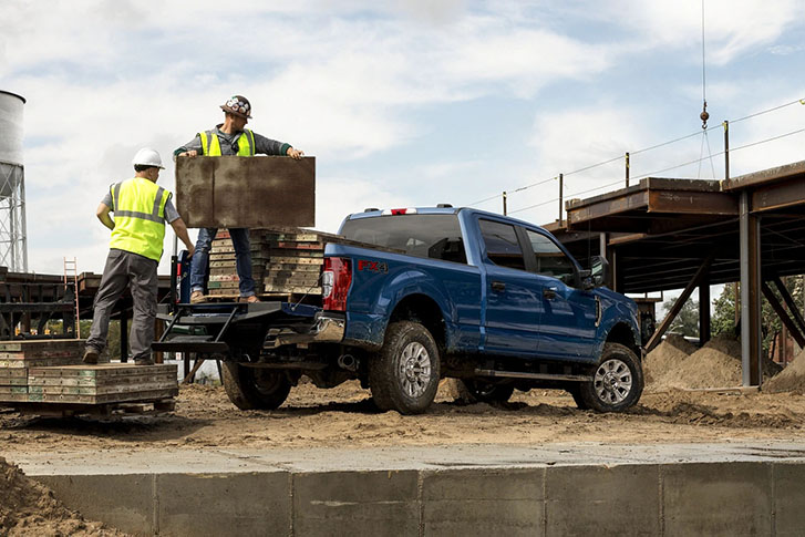
<path fill-rule="evenodd" d="M 165 205 L 171 193 L 143 177 L 115 183 L 110 190 L 115 216 L 110 248 L 158 262 L 165 238 Z"/>

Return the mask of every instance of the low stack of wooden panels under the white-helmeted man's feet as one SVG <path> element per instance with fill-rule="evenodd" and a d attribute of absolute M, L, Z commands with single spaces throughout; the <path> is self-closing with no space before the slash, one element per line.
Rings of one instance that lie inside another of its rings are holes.
<path fill-rule="evenodd" d="M 83 351 L 83 340 L 0 341 L 0 403 L 102 405 L 178 394 L 176 365 L 87 365 Z"/>

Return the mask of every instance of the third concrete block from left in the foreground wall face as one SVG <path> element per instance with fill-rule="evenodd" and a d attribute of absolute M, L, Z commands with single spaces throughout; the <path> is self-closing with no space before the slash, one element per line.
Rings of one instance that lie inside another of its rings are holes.
<path fill-rule="evenodd" d="M 293 533 L 311 536 L 419 536 L 415 471 L 293 475 Z"/>

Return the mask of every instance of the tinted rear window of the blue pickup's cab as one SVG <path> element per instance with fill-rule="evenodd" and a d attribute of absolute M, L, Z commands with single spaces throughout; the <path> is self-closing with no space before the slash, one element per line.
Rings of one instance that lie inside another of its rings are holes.
<path fill-rule="evenodd" d="M 405 254 L 467 262 L 456 215 L 395 215 L 347 220 L 341 235 Z"/>

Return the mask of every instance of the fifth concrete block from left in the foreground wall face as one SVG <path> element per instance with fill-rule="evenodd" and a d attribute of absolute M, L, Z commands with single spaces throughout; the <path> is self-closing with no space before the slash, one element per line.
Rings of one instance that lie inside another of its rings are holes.
<path fill-rule="evenodd" d="M 548 467 L 546 535 L 658 535 L 658 476 L 654 464 Z"/>

